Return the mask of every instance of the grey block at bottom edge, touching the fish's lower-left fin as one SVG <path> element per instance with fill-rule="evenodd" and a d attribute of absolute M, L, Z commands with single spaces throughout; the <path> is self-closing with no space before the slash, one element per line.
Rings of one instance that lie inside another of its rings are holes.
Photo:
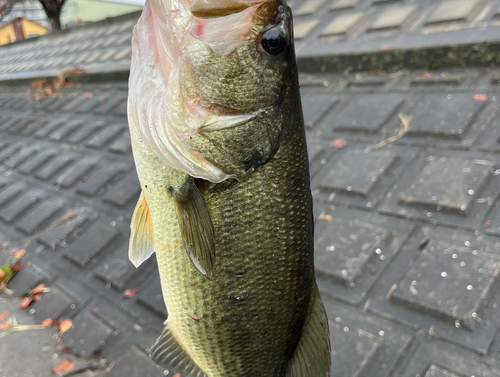
<path fill-rule="evenodd" d="M 132 346 L 118 358 L 108 377 L 164 377 L 163 368 L 153 363 L 149 356 Z"/>

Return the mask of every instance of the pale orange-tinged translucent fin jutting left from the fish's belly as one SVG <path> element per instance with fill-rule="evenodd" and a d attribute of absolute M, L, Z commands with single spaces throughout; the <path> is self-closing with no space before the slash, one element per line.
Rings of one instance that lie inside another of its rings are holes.
<path fill-rule="evenodd" d="M 132 215 L 130 230 L 128 258 L 135 267 L 139 267 L 154 253 L 153 221 L 143 192 Z"/>

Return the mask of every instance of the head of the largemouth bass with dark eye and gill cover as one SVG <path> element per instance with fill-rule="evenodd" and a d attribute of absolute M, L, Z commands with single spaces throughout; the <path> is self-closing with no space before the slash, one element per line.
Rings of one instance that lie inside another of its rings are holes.
<path fill-rule="evenodd" d="M 129 120 L 134 96 L 143 109 L 136 109 L 131 129 L 141 129 L 170 166 L 211 182 L 243 179 L 268 162 L 299 88 L 286 2 L 148 0 L 141 19 L 133 39 Z M 152 72 L 141 59 L 150 61 Z"/>

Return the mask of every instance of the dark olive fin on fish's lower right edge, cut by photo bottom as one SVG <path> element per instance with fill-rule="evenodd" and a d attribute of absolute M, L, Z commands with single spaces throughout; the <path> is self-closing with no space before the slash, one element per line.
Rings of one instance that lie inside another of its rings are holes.
<path fill-rule="evenodd" d="M 288 364 L 286 377 L 329 377 L 330 335 L 325 307 L 315 286 L 302 337 Z"/>

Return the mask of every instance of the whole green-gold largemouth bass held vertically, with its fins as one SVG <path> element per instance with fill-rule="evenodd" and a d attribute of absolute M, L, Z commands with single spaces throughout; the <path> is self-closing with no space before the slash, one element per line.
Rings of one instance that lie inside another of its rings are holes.
<path fill-rule="evenodd" d="M 290 8 L 147 0 L 132 50 L 129 257 L 156 252 L 169 313 L 151 357 L 191 376 L 329 376 Z"/>

